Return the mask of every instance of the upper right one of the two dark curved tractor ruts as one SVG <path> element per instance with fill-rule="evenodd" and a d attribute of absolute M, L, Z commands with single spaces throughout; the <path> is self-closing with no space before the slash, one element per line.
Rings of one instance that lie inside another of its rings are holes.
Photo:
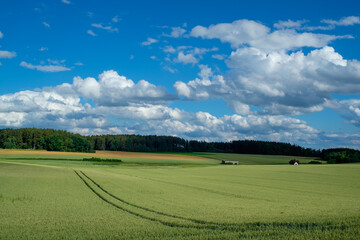
<path fill-rule="evenodd" d="M 172 218 L 177 218 L 177 219 L 181 219 L 181 220 L 187 220 L 187 221 L 191 221 L 191 222 L 194 222 L 194 223 L 198 223 L 198 224 L 219 224 L 219 223 L 215 223 L 215 222 L 208 222 L 208 221 L 203 221 L 203 220 L 198 220 L 198 219 L 192 219 L 192 218 L 186 218 L 186 217 L 181 217 L 181 216 L 177 216 L 177 215 L 172 215 L 172 214 L 167 214 L 167 213 L 164 213 L 164 212 L 159 212 L 159 211 L 156 211 L 156 210 L 153 210 L 153 209 L 149 209 L 149 208 L 146 208 L 146 207 L 142 207 L 142 206 L 139 206 L 139 205 L 136 205 L 136 204 L 133 204 L 133 203 L 130 203 L 130 202 L 127 202 L 123 199 L 120 199 L 119 197 L 113 195 L 112 193 L 110 193 L 109 191 L 105 190 L 102 186 L 100 186 L 97 182 L 95 182 L 93 179 L 91 179 L 88 175 L 86 175 L 83 171 L 80 171 L 87 179 L 89 179 L 92 183 L 94 183 L 99 189 L 101 189 L 104 193 L 106 193 L 107 195 L 109 195 L 110 197 L 122 202 L 122 203 L 125 203 L 129 206 L 132 206 L 132 207 L 136 207 L 136 208 L 139 208 L 139 209 L 142 209 L 142 210 L 145 210 L 145 211 L 148 211 L 148 212 L 152 212 L 152 213 L 156 213 L 156 214 L 159 214 L 159 215 L 162 215 L 162 216 L 166 216 L 166 217 L 172 217 Z"/>

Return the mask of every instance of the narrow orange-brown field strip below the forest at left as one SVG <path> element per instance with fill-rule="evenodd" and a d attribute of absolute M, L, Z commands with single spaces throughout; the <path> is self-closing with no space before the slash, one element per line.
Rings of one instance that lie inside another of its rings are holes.
<path fill-rule="evenodd" d="M 116 152 L 116 151 L 96 151 L 96 153 L 74 153 L 74 152 L 48 152 L 45 150 L 0 150 L 0 155 L 65 155 L 65 156 L 86 156 L 86 157 L 105 157 L 105 158 L 147 158 L 147 159 L 169 159 L 169 160 L 209 160 L 198 156 L 187 156 L 177 154 L 156 154 L 138 152 Z"/>

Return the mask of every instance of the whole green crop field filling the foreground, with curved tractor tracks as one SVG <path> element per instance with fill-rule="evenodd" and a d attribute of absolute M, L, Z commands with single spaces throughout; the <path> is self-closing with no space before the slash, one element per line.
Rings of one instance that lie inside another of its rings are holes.
<path fill-rule="evenodd" d="M 0 239 L 359 238 L 360 165 L 231 157 L 0 156 Z"/>

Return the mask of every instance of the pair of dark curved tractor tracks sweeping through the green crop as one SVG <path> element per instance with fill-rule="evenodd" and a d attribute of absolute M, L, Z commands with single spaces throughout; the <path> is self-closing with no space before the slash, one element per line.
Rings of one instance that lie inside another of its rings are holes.
<path fill-rule="evenodd" d="M 132 204 L 129 203 L 127 201 L 124 201 L 123 199 L 120 199 L 118 197 L 116 197 L 115 195 L 109 193 L 107 190 L 105 190 L 103 187 L 101 187 L 99 184 L 97 184 L 94 180 L 92 180 L 90 177 L 88 177 L 83 171 L 79 171 L 81 174 L 79 174 L 76 170 L 74 170 L 75 174 L 82 180 L 82 182 L 84 182 L 85 186 L 87 188 L 89 188 L 96 196 L 98 196 L 101 200 L 103 200 L 104 202 L 106 202 L 107 204 L 110 204 L 111 206 L 120 209 L 126 213 L 129 213 L 133 216 L 136 217 L 140 217 L 142 219 L 145 220 L 149 220 L 152 222 L 158 222 L 164 226 L 168 226 L 168 227 L 176 227 L 176 228 L 193 228 L 193 229 L 205 229 L 205 230 L 217 230 L 217 231 L 231 231 L 231 232 L 238 232 L 238 233 L 243 233 L 245 231 L 248 230 L 258 230 L 258 231 L 263 231 L 267 228 L 278 228 L 278 227 L 282 227 L 282 228 L 288 228 L 288 229 L 306 229 L 306 230 L 315 230 L 315 229 L 319 229 L 321 231 L 329 231 L 329 230 L 336 230 L 336 229 L 340 229 L 340 230 L 346 230 L 349 226 L 346 226 L 344 224 L 336 224 L 333 225 L 331 223 L 261 223 L 261 222 L 254 222 L 254 223 L 215 223 L 215 222 L 207 222 L 207 221 L 202 221 L 202 220 L 196 220 L 196 219 L 191 219 L 191 218 L 185 218 L 185 217 L 181 217 L 181 216 L 176 216 L 176 215 L 171 215 L 171 214 L 167 214 L 167 213 L 163 213 L 163 212 L 159 212 L 156 210 L 152 210 L 149 208 L 145 208 L 145 207 L 141 207 L 138 206 L 136 204 Z M 81 176 L 82 175 L 82 176 Z M 145 216 L 143 214 L 128 210 L 126 208 L 123 208 L 121 206 L 119 206 L 116 203 L 111 202 L 110 200 L 106 199 L 104 196 L 102 196 L 99 192 L 97 192 L 92 186 L 90 186 L 90 184 L 85 180 L 85 178 L 87 178 L 89 181 L 91 181 L 98 189 L 100 189 L 100 191 L 110 197 L 112 197 L 113 199 L 122 202 L 124 204 L 127 204 L 129 206 L 132 207 L 136 207 L 139 209 L 142 209 L 144 211 L 148 211 L 151 213 L 156 213 L 158 215 L 162 215 L 162 216 L 166 216 L 166 217 L 172 217 L 175 219 L 179 219 L 179 220 L 186 220 L 186 221 L 191 221 L 197 225 L 190 225 L 190 224 L 179 224 L 179 223 L 173 223 L 173 222 L 168 222 L 168 221 L 164 221 L 161 219 L 157 219 L 154 217 L 148 217 Z M 354 226 L 358 226 L 358 224 L 354 224 Z"/>

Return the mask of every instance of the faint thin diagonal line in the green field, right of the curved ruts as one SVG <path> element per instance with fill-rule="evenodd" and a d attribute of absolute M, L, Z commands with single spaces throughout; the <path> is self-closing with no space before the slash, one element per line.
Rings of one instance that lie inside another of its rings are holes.
<path fill-rule="evenodd" d="M 247 197 L 247 196 L 243 196 L 243 195 L 239 195 L 239 194 L 221 192 L 221 191 L 216 191 L 216 190 L 213 190 L 213 189 L 196 187 L 196 186 L 191 186 L 191 185 L 186 185 L 186 184 L 181 184 L 181 183 L 168 182 L 168 181 L 159 180 L 159 179 L 155 179 L 155 178 L 140 177 L 140 176 L 128 175 L 128 174 L 123 174 L 123 175 L 131 176 L 131 177 L 136 177 L 136 178 L 141 178 L 141 179 L 145 179 L 145 180 L 150 180 L 150 181 L 154 181 L 154 182 L 165 183 L 165 184 L 174 185 L 174 186 L 180 186 L 180 187 L 185 187 L 185 188 L 192 188 L 192 189 L 196 189 L 196 190 L 203 191 L 203 192 L 209 192 L 209 193 L 213 193 L 213 194 L 218 194 L 218 195 L 221 195 L 221 196 L 229 196 L 229 197 L 240 198 L 240 199 L 248 199 L 248 200 L 271 202 L 270 199 L 256 198 L 256 197 Z"/>

